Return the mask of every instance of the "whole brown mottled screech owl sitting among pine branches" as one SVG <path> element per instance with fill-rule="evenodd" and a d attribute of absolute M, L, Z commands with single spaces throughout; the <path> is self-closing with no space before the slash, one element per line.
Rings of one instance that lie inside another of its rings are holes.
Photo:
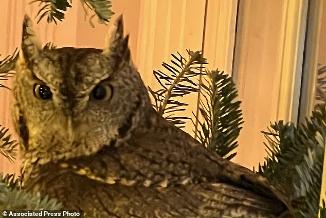
<path fill-rule="evenodd" d="M 265 178 L 156 113 L 122 16 L 103 50 L 41 48 L 26 16 L 14 98 L 24 188 L 65 208 L 95 218 L 291 214 Z"/>

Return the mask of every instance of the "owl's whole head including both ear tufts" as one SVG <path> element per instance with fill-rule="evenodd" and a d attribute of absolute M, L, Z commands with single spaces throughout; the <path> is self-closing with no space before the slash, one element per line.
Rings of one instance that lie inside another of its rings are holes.
<path fill-rule="evenodd" d="M 13 108 L 25 158 L 42 163 L 89 155 L 146 125 L 152 107 L 122 16 L 107 44 L 42 49 L 25 17 Z"/>

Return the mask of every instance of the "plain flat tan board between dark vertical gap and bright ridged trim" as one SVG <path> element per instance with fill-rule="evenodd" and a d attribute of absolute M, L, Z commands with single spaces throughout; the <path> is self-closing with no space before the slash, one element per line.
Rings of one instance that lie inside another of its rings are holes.
<path fill-rule="evenodd" d="M 252 167 L 266 156 L 260 131 L 277 119 L 284 1 L 240 1 L 239 7 L 233 78 L 245 121 L 239 143 L 246 146 L 234 161 Z"/>

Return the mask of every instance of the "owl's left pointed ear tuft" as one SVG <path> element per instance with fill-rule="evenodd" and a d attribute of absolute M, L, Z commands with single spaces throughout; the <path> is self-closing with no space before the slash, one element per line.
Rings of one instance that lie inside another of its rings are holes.
<path fill-rule="evenodd" d="M 27 62 L 33 61 L 40 52 L 41 44 L 32 27 L 32 21 L 25 15 L 23 23 L 22 51 Z"/>

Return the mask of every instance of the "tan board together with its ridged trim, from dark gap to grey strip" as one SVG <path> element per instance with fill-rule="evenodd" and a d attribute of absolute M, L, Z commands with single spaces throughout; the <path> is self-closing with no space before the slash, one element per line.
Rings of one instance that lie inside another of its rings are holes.
<path fill-rule="evenodd" d="M 266 156 L 259 132 L 271 121 L 297 119 L 306 4 L 239 0 L 232 78 L 245 122 L 234 161 L 248 168 Z"/>

